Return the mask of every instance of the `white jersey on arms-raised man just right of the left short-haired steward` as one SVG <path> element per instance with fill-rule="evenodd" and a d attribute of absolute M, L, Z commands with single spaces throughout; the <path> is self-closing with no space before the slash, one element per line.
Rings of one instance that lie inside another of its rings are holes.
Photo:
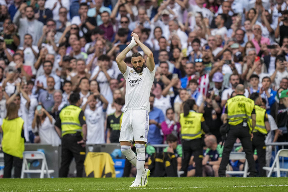
<path fill-rule="evenodd" d="M 90 107 L 85 109 L 85 118 L 87 125 L 87 144 L 105 143 L 105 119 L 106 113 L 103 111 L 103 106 L 97 107 L 92 111 Z"/>

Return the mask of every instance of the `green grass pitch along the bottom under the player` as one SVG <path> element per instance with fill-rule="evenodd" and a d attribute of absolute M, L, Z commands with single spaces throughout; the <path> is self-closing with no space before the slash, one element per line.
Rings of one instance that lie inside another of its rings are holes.
<path fill-rule="evenodd" d="M 0 192 L 44 191 L 288 191 L 288 178 L 150 178 L 144 188 L 131 189 L 134 178 L 0 179 Z"/>

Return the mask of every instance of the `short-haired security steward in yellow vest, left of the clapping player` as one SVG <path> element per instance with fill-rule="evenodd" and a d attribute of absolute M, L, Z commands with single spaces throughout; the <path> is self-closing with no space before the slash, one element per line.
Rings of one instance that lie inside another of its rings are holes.
<path fill-rule="evenodd" d="M 62 136 L 61 167 L 59 177 L 67 177 L 70 163 L 75 158 L 77 177 L 83 176 L 85 160 L 85 142 L 87 125 L 82 109 L 79 93 L 72 93 L 69 97 L 70 105 L 63 108 L 55 128 L 59 136 Z"/>

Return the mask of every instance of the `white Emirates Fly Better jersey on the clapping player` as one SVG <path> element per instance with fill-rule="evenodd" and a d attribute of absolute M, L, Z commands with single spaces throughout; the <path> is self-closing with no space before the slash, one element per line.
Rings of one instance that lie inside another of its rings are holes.
<path fill-rule="evenodd" d="M 126 79 L 124 112 L 131 107 L 150 111 L 149 96 L 154 81 L 155 68 L 151 72 L 146 67 L 141 73 L 136 73 L 133 68 L 127 66 L 126 72 L 123 74 Z"/>

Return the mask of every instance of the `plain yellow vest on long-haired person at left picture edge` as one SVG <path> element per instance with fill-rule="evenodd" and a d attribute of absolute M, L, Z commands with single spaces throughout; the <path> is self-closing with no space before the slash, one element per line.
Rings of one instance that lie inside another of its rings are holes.
<path fill-rule="evenodd" d="M 14 157 L 23 158 L 24 138 L 21 137 L 24 121 L 21 117 L 8 120 L 3 119 L 2 150 Z"/>

